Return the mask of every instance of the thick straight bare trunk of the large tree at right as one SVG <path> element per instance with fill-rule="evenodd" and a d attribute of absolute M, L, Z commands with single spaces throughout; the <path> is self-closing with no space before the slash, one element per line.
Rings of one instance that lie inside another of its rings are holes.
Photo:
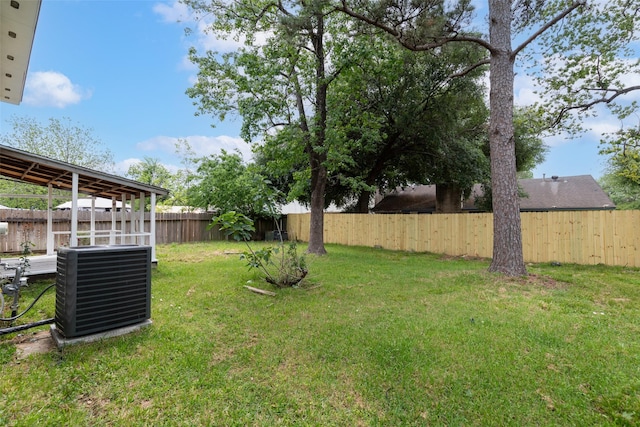
<path fill-rule="evenodd" d="M 511 51 L 511 1 L 489 0 L 490 64 L 489 144 L 493 194 L 493 260 L 489 271 L 520 276 L 527 273 L 513 138 L 514 58 Z"/>

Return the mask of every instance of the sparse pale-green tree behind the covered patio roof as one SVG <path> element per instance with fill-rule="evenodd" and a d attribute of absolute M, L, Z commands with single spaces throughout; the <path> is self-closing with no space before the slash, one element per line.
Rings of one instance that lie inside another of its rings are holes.
<path fill-rule="evenodd" d="M 12 130 L 0 134 L 0 144 L 28 151 L 78 166 L 104 172 L 113 171 L 113 155 L 93 136 L 92 131 L 71 119 L 50 118 L 47 125 L 29 117 L 14 116 L 8 120 Z M 0 194 L 45 195 L 47 189 L 32 184 L 0 180 Z M 54 190 L 54 195 L 61 194 Z M 55 198 L 54 205 L 68 198 Z M 0 199 L 0 204 L 13 208 L 47 209 L 43 198 L 10 197 Z"/>

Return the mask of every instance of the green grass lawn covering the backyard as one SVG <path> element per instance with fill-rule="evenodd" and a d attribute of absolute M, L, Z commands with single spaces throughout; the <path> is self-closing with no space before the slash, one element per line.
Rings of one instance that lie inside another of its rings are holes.
<path fill-rule="evenodd" d="M 242 246 L 158 247 L 151 327 L 25 360 L 1 338 L 0 425 L 640 425 L 639 270 L 327 249 L 275 290 Z"/>

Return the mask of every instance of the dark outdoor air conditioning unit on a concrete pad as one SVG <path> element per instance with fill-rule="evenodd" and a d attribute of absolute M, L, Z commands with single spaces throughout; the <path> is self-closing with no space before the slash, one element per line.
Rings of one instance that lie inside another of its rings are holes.
<path fill-rule="evenodd" d="M 62 337 L 108 332 L 150 317 L 150 246 L 58 249 L 55 329 Z"/>

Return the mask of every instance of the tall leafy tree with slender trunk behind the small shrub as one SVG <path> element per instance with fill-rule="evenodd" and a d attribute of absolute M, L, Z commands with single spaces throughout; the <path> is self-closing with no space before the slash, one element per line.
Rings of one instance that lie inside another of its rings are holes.
<path fill-rule="evenodd" d="M 185 0 L 216 19 L 208 28 L 244 46 L 222 55 L 191 50 L 198 81 L 188 90 L 200 113 L 242 116 L 242 137 L 264 139 L 279 128 L 299 138 L 308 157 L 311 207 L 308 252 L 323 254 L 327 184 L 327 103 L 330 85 L 351 62 L 347 20 L 324 0 L 208 3 Z M 264 41 L 257 42 L 258 36 Z M 295 129 L 295 131 L 294 131 Z"/>

